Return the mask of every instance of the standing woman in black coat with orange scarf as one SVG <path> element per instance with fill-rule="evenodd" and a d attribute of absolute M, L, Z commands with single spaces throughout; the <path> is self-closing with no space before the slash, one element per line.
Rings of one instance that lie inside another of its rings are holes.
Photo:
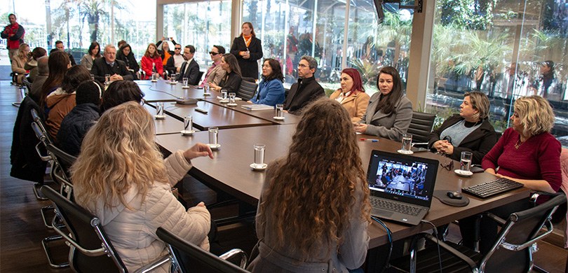
<path fill-rule="evenodd" d="M 243 77 L 258 80 L 258 62 L 262 59 L 262 44 L 255 35 L 252 23 L 244 22 L 241 35 L 236 37 L 231 46 L 231 54 L 237 58 Z"/>

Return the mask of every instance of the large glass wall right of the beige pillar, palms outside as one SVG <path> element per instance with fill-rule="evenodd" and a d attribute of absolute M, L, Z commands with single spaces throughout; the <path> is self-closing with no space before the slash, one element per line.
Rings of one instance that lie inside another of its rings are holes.
<path fill-rule="evenodd" d="M 539 94 L 554 108 L 553 134 L 568 146 L 567 22 L 561 0 L 438 1 L 426 110 L 441 121 L 458 113 L 464 92 L 481 90 L 503 131 L 515 99 Z"/>

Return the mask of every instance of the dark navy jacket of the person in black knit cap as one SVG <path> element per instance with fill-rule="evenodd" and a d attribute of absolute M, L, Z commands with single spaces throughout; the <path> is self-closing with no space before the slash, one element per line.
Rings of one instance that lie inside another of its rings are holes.
<path fill-rule="evenodd" d="M 58 132 L 59 148 L 69 155 L 79 155 L 83 137 L 98 118 L 99 106 L 91 103 L 75 106 L 61 122 Z"/>

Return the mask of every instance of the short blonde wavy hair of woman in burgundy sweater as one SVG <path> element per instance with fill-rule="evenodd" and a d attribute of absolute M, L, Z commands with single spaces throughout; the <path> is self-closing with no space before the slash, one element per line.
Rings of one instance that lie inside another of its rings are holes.
<path fill-rule="evenodd" d="M 514 109 L 521 120 L 522 134 L 527 137 L 550 132 L 554 126 L 553 109 L 541 96 L 520 97 L 515 101 Z"/>

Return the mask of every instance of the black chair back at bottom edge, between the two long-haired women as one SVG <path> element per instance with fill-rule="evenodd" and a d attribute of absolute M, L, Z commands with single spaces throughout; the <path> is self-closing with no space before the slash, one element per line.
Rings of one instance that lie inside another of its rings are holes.
<path fill-rule="evenodd" d="M 248 272 L 244 269 L 247 265 L 247 255 L 241 249 L 232 249 L 231 251 L 217 257 L 215 254 L 205 251 L 203 248 L 196 246 L 195 244 L 191 244 L 189 241 L 185 241 L 163 228 L 158 228 L 158 230 L 156 230 L 156 235 L 158 235 L 158 238 L 164 241 L 165 244 L 168 244 L 170 255 L 173 255 L 173 266 L 177 267 L 175 269 L 180 269 L 181 272 L 195 272 L 194 269 L 196 268 L 202 269 L 203 272 L 208 273 Z M 184 262 L 180 263 L 180 254 L 177 254 L 177 251 L 187 255 L 187 258 L 189 259 L 187 262 L 191 262 L 191 265 L 184 265 Z M 241 255 L 240 267 L 227 261 L 227 259 L 231 259 L 236 255 Z"/>

